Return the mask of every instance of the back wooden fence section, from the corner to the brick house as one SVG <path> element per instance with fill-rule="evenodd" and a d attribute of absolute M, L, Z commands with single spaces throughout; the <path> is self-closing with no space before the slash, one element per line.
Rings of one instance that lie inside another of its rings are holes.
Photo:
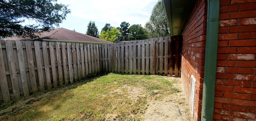
<path fill-rule="evenodd" d="M 114 73 L 178 76 L 178 39 L 170 36 L 102 45 L 102 69 Z"/>

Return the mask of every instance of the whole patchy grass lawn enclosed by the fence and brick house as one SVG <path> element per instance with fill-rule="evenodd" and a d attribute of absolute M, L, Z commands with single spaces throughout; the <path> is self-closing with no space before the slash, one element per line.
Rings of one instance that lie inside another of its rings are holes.
<path fill-rule="evenodd" d="M 180 78 L 108 75 L 1 106 L 0 121 L 188 121 Z"/>

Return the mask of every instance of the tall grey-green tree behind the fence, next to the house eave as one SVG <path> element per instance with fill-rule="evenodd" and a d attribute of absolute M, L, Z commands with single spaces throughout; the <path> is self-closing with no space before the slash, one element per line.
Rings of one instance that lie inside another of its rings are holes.
<path fill-rule="evenodd" d="M 158 38 L 170 35 L 168 20 L 162 0 L 159 0 L 154 6 L 150 20 L 146 22 L 145 28 L 148 31 L 149 38 Z"/>

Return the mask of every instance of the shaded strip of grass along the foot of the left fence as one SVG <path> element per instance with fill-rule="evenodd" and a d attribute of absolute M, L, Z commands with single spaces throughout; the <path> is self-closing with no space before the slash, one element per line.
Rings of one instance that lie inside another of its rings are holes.
<path fill-rule="evenodd" d="M 4 104 L 1 100 L 0 121 L 31 121 L 35 120 L 33 115 L 42 115 L 44 117 L 47 117 L 47 115 L 45 115 L 46 111 L 52 111 L 63 108 L 63 105 L 61 104 L 67 101 L 68 99 L 72 99 L 74 97 L 74 94 L 65 95 L 65 93 L 67 93 L 70 90 L 76 89 L 77 87 L 84 85 L 88 82 L 94 81 L 103 75 L 104 74 L 88 76 L 86 78 L 81 79 L 81 81 L 75 82 L 73 84 L 65 85 L 64 87 L 60 87 L 57 89 L 52 89 L 51 91 L 40 92 L 35 95 L 30 95 L 29 97 L 21 97 L 20 99 L 16 101 L 11 101 L 8 104 Z M 52 102 L 53 100 L 54 102 Z M 48 105 L 48 107 L 45 109 L 35 109 L 34 107 L 38 105 Z M 17 115 L 19 115 L 18 119 L 15 118 Z"/>

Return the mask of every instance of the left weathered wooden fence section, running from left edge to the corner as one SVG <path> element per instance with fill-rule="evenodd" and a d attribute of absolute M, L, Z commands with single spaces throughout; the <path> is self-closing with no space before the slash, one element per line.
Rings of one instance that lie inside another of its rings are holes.
<path fill-rule="evenodd" d="M 9 102 L 99 73 L 99 46 L 0 41 L 0 97 Z"/>

